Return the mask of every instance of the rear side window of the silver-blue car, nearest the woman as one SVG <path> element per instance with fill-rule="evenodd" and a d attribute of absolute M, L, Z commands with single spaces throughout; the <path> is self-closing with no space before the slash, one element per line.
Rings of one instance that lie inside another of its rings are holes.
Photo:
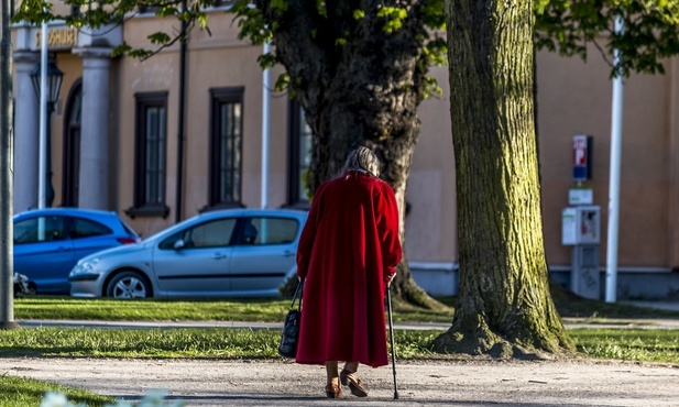
<path fill-rule="evenodd" d="M 240 244 L 285 244 L 295 241 L 299 222 L 289 218 L 250 218 L 243 226 Z"/>

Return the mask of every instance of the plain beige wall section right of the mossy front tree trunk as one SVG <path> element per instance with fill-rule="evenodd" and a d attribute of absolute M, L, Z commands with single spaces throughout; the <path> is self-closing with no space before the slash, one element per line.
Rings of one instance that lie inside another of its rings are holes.
<path fill-rule="evenodd" d="M 587 63 L 540 53 L 538 117 L 545 242 L 550 264 L 569 264 L 570 249 L 560 244 L 561 210 L 568 205 L 573 134 L 594 138 L 591 185 L 602 209 L 601 264 L 605 264 L 611 152 L 610 67 L 596 50 Z M 671 67 L 672 64 L 669 63 Z M 673 267 L 669 262 L 668 190 L 669 96 L 673 75 L 625 80 L 621 166 L 621 266 Z"/>

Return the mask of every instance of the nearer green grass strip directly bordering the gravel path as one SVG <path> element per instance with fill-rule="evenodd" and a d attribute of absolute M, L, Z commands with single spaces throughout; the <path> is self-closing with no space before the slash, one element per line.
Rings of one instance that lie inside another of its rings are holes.
<path fill-rule="evenodd" d="M 679 363 L 679 336 L 664 329 L 572 329 L 578 351 L 595 359 Z M 440 355 L 431 342 L 440 330 L 396 330 L 401 360 Z M 0 356 L 280 359 L 278 330 L 236 328 L 84 329 L 0 331 Z M 1 404 L 0 404 L 1 405 Z"/>

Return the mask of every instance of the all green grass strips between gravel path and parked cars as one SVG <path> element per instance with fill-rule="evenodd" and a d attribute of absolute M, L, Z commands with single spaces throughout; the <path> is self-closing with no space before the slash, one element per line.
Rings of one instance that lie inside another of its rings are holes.
<path fill-rule="evenodd" d="M 606 318 L 679 318 L 679 312 L 573 296 L 552 287 L 559 312 L 568 318 L 595 319 L 601 329 L 569 330 L 578 351 L 590 358 L 679 363 L 677 331 L 605 329 Z M 439 310 L 396 307 L 401 322 L 452 321 L 456 297 L 439 298 Z M 85 320 L 222 320 L 281 322 L 289 300 L 116 300 L 68 296 L 29 296 L 14 301 L 17 319 Z M 396 351 L 402 359 L 435 356 L 430 344 L 440 331 L 398 331 Z M 0 355 L 108 358 L 278 358 L 277 330 L 250 329 L 70 329 L 40 328 L 0 331 Z"/>

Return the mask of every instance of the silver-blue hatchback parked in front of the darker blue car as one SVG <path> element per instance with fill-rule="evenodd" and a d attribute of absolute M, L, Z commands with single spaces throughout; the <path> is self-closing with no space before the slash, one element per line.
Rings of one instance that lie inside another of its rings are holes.
<path fill-rule="evenodd" d="M 276 297 L 296 273 L 306 211 L 227 209 L 198 215 L 138 244 L 83 257 L 74 297 Z"/>

